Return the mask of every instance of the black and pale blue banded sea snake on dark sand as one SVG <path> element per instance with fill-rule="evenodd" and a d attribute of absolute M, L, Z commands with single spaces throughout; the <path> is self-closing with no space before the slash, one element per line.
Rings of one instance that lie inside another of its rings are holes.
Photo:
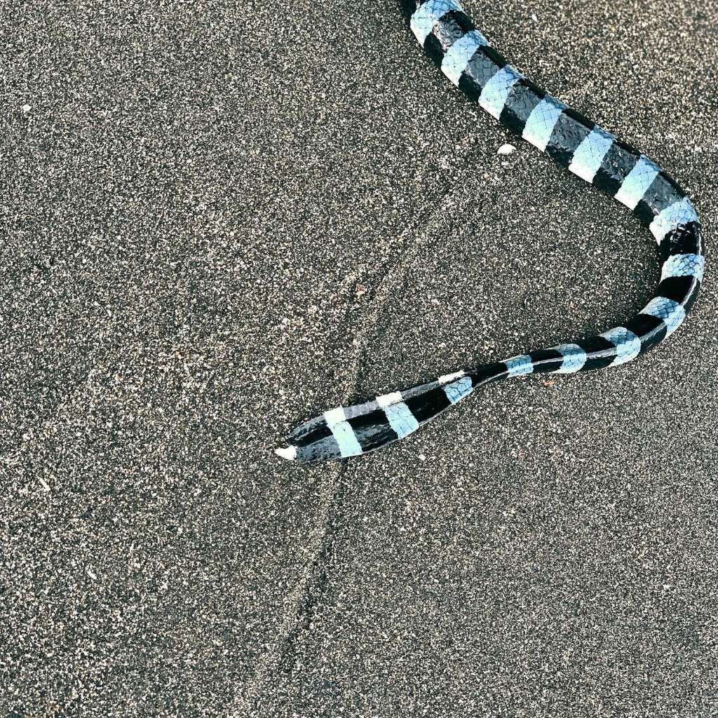
<path fill-rule="evenodd" d="M 648 304 L 620 327 L 439 376 L 304 421 L 289 434 L 286 446 L 275 449 L 284 459 L 327 461 L 373 452 L 409 437 L 496 381 L 623 365 L 681 326 L 703 281 L 698 215 L 663 169 L 518 72 L 457 0 L 402 0 L 402 8 L 419 45 L 470 102 L 633 212 L 656 239 L 661 279 Z"/>

